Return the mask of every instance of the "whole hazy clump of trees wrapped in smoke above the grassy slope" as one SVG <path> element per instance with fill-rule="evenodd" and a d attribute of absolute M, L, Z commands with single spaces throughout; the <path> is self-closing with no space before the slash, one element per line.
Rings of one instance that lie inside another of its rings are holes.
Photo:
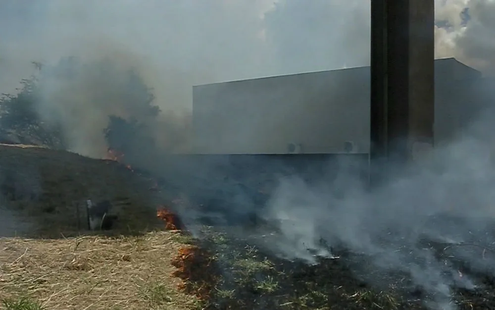
<path fill-rule="evenodd" d="M 0 98 L 0 129 L 20 143 L 95 157 L 110 148 L 133 161 L 157 153 L 159 128 L 173 132 L 182 124 L 162 117 L 152 90 L 128 64 L 76 57 L 33 64 L 37 73 L 21 81 L 18 93 Z"/>

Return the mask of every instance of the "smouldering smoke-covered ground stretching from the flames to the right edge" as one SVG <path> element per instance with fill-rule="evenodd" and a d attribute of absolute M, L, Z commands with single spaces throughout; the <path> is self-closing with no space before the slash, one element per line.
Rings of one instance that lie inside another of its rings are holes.
<path fill-rule="evenodd" d="M 355 158 L 344 156 L 333 173 L 309 177 L 274 159 L 277 172 L 264 176 L 276 185 L 256 206 L 251 190 L 263 174 L 250 170 L 249 178 L 246 165 L 236 168 L 244 176 L 225 180 L 235 167 L 224 162 L 221 170 L 217 161 L 191 196 L 208 193 L 217 211 L 204 205 L 178 212 L 190 227 L 207 219 L 263 253 L 308 264 L 339 259 L 372 286 L 394 286 L 431 309 L 455 309 L 455 292 L 483 291 L 495 271 L 495 114 L 486 108 L 480 115 L 453 142 L 410 166 L 382 167 L 394 177 L 372 190 L 356 176 Z M 240 227 L 250 212 L 266 222 Z"/>

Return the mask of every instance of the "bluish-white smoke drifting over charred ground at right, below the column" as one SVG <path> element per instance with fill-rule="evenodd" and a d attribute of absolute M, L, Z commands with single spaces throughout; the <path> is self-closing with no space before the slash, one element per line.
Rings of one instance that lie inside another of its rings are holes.
<path fill-rule="evenodd" d="M 324 255 L 323 239 L 371 258 L 367 267 L 365 260 L 353 266 L 367 281 L 388 285 L 385 274 L 405 273 L 404 287 L 431 294 L 435 309 L 454 309 L 451 290 L 482 288 L 470 274 L 495 271 L 494 111 L 484 112 L 455 142 L 410 167 L 393 167 L 397 176 L 372 191 L 346 162 L 333 182 L 319 186 L 282 178 L 265 209 L 267 218 L 286 220 L 283 237 L 271 240 L 273 251 L 311 262 L 306 248 Z"/>

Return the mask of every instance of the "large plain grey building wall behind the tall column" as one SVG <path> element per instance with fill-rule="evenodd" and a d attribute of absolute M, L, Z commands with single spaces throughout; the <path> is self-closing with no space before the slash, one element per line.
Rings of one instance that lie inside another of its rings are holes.
<path fill-rule="evenodd" d="M 480 81 L 454 58 L 435 61 L 435 141 L 473 117 Z M 196 154 L 367 154 L 370 67 L 195 86 L 193 126 Z"/>

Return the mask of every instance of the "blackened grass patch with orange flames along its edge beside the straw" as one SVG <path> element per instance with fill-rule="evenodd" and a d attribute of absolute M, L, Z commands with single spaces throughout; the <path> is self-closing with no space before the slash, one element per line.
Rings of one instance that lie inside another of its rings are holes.
<path fill-rule="evenodd" d="M 400 303 L 362 286 L 333 259 L 310 266 L 268 257 L 211 227 L 193 243 L 173 260 L 174 275 L 206 309 L 398 309 Z"/>

